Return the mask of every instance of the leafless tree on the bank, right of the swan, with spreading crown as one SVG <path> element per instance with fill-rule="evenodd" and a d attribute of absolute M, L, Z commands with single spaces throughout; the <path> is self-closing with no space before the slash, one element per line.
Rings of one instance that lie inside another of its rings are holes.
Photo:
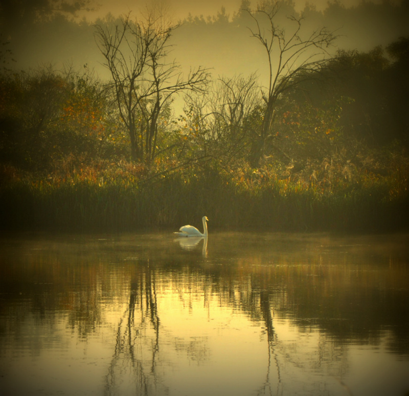
<path fill-rule="evenodd" d="M 262 158 L 274 122 L 278 97 L 286 90 L 303 81 L 300 76 L 311 77 L 311 71 L 319 70 L 330 58 L 328 47 L 336 36 L 325 28 L 304 32 L 303 16 L 287 16 L 289 26 L 285 30 L 276 23 L 280 10 L 279 2 L 263 3 L 257 11 L 248 11 L 255 22 L 249 28 L 264 48 L 268 61 L 268 86 L 262 89 L 265 103 L 260 130 L 254 136 L 251 161 L 257 166 Z M 309 72 L 309 73 L 307 73 Z M 297 77 L 297 79 L 296 79 Z M 307 78 L 307 77 L 306 77 Z"/>

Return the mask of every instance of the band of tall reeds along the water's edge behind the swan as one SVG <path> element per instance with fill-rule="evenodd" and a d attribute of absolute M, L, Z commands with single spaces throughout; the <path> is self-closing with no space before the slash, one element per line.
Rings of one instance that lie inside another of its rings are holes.
<path fill-rule="evenodd" d="M 308 183 L 267 171 L 173 174 L 154 182 L 127 169 L 106 172 L 3 185 L 3 228 L 170 229 L 207 214 L 213 230 L 372 231 L 404 227 L 409 213 L 401 170 Z"/>

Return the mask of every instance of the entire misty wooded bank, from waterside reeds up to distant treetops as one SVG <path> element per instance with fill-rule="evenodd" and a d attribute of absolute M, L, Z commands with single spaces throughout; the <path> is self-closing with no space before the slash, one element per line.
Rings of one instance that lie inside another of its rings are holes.
<path fill-rule="evenodd" d="M 176 22 L 163 5 L 90 22 L 75 18 L 85 0 L 20 3 L 1 10 L 3 230 L 170 229 L 203 215 L 215 230 L 407 229 L 407 0 L 243 0 Z"/>

